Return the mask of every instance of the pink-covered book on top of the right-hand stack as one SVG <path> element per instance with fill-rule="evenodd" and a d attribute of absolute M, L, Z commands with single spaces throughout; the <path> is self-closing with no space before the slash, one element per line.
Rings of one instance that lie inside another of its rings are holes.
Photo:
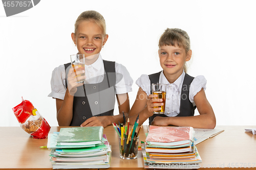
<path fill-rule="evenodd" d="M 194 129 L 192 127 L 161 127 L 150 126 L 146 141 L 175 142 L 183 140 L 193 141 Z"/>

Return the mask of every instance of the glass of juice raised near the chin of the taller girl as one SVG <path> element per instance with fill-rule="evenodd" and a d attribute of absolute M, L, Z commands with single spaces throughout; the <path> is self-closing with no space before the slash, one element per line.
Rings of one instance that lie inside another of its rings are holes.
<path fill-rule="evenodd" d="M 76 74 L 76 71 L 78 71 L 78 70 L 85 70 L 84 69 L 84 54 L 70 55 L 70 58 L 71 58 L 71 66 L 74 69 L 74 72 L 76 75 L 75 78 L 77 79 L 76 83 L 84 83 L 86 81 L 86 79 L 84 79 L 84 78 L 79 79 L 79 77 L 85 76 L 86 74 L 85 73 L 82 73 L 79 75 Z M 75 69 L 75 66 L 78 66 L 78 68 Z"/>

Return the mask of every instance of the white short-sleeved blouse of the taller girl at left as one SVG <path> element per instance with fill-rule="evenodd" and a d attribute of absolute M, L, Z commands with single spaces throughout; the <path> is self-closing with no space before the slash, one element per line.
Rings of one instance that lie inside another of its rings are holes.
<path fill-rule="evenodd" d="M 94 84 L 100 83 L 104 78 L 104 64 L 99 55 L 98 59 L 91 65 L 85 65 L 86 69 L 86 83 Z M 121 74 L 123 77 L 120 80 L 118 76 L 116 76 L 116 85 L 115 85 L 115 93 L 123 94 L 132 91 L 133 79 L 131 78 L 129 72 L 122 64 L 115 63 L 116 73 Z M 92 79 L 94 78 L 94 79 Z M 51 79 L 51 88 L 52 92 L 48 95 L 54 99 L 64 100 L 64 96 L 66 93 L 66 72 L 65 66 L 60 65 L 52 71 L 52 79 Z"/>

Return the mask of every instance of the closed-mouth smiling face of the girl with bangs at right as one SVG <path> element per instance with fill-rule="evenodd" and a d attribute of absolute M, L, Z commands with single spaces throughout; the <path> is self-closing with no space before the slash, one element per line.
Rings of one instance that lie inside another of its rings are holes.
<path fill-rule="evenodd" d="M 160 65 L 163 68 L 164 75 L 170 83 L 177 80 L 183 72 L 186 61 L 191 58 L 191 50 L 187 53 L 185 49 L 178 45 L 163 45 L 159 48 Z"/>

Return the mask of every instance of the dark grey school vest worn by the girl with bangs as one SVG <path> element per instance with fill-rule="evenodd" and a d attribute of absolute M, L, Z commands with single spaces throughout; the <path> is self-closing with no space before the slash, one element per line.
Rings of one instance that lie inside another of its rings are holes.
<path fill-rule="evenodd" d="M 160 74 L 161 74 L 161 71 L 156 74 L 148 75 L 151 81 L 151 86 L 152 86 L 152 83 L 159 82 Z M 182 89 L 181 89 L 180 113 L 177 116 L 194 116 L 195 114 L 196 106 L 194 107 L 193 104 L 188 99 L 189 87 L 193 80 L 194 80 L 194 77 L 191 77 L 188 74 L 185 74 L 184 81 L 182 84 Z M 152 87 L 150 89 L 152 94 Z M 165 114 L 154 114 L 153 116 L 149 117 L 150 125 L 156 116 L 168 117 Z"/>

